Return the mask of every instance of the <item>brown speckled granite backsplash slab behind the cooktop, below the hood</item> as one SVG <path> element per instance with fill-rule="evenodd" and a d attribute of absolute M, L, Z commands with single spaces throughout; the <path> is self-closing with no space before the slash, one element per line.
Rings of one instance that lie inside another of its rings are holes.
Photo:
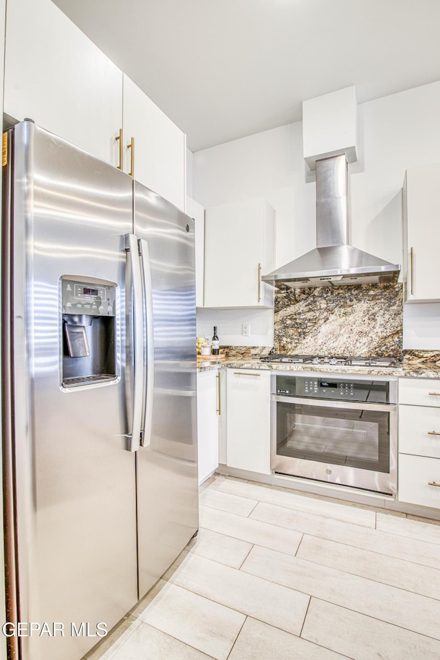
<path fill-rule="evenodd" d="M 401 284 L 322 286 L 275 293 L 279 353 L 401 359 Z"/>

